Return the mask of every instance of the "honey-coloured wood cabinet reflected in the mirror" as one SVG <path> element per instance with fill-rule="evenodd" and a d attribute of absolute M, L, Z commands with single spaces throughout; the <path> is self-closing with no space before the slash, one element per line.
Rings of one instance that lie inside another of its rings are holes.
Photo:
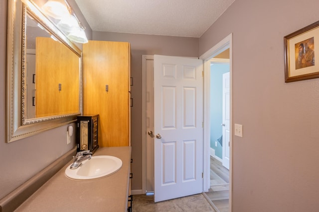
<path fill-rule="evenodd" d="M 79 57 L 51 38 L 36 38 L 35 116 L 71 114 L 79 107 Z M 59 91 L 61 84 L 61 91 Z"/>

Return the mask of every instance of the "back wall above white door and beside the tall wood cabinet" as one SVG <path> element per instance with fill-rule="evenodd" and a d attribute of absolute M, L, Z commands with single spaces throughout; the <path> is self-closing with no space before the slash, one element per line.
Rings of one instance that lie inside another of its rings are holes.
<path fill-rule="evenodd" d="M 142 55 L 198 57 L 198 38 L 139 35 L 93 31 L 93 40 L 131 43 L 132 107 L 132 190 L 142 189 Z"/>

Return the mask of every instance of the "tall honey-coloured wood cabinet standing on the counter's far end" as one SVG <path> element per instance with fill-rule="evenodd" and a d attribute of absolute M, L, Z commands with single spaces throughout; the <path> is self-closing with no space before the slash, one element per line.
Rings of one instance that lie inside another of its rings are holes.
<path fill-rule="evenodd" d="M 83 44 L 83 113 L 99 114 L 100 147 L 131 145 L 130 67 L 130 43 Z"/>

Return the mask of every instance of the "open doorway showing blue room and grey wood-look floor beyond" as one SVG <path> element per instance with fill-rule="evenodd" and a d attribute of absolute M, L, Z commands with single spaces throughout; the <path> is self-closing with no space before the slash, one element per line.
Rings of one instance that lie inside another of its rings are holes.
<path fill-rule="evenodd" d="M 216 211 L 229 209 L 229 49 L 210 60 L 210 188 Z"/>

